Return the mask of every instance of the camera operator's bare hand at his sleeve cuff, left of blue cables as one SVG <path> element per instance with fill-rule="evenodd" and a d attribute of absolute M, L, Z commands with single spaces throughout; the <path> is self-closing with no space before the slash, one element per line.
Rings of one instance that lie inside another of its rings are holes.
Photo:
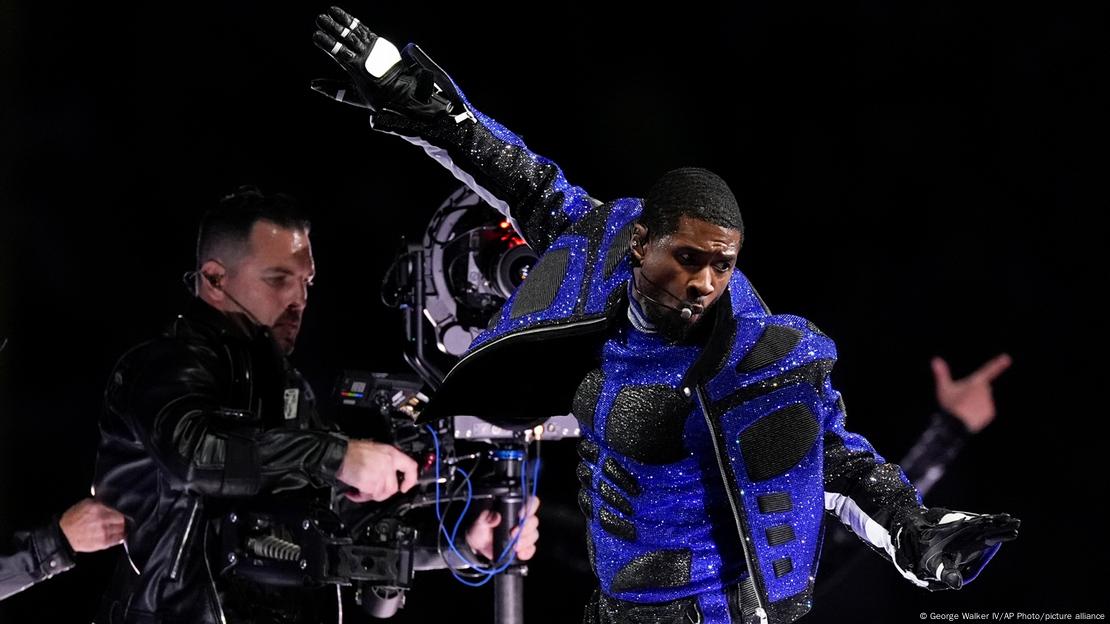
<path fill-rule="evenodd" d="M 352 440 L 335 479 L 354 487 L 345 496 L 356 503 L 384 501 L 416 484 L 416 462 L 389 444 Z"/>

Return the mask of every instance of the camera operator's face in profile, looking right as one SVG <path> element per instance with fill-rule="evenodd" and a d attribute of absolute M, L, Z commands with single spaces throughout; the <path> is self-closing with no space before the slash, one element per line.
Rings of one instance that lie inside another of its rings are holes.
<path fill-rule="evenodd" d="M 218 308 L 242 312 L 238 301 L 262 324 L 286 353 L 293 351 L 316 274 L 309 233 L 259 221 L 251 229 L 245 255 L 229 266 L 221 286 L 234 301 L 223 298 Z M 219 294 L 215 294 L 219 298 Z"/>

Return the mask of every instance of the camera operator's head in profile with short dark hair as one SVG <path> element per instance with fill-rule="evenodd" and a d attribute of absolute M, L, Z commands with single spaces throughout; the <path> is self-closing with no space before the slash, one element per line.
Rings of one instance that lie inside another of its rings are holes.
<path fill-rule="evenodd" d="M 241 187 L 201 219 L 196 294 L 231 315 L 269 326 L 293 350 L 315 275 L 309 221 L 281 193 Z"/>

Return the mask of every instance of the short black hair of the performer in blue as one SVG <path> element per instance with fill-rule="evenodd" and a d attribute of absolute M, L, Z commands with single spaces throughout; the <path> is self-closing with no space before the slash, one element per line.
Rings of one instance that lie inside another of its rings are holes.
<path fill-rule="evenodd" d="M 648 235 L 665 236 L 675 232 L 684 215 L 744 234 L 736 195 L 719 175 L 706 169 L 684 167 L 659 178 L 644 198 L 638 221 Z"/>

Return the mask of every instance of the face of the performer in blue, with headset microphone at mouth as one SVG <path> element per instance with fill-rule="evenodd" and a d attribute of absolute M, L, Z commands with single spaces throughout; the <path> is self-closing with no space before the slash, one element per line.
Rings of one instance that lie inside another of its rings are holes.
<path fill-rule="evenodd" d="M 637 288 L 673 308 L 685 304 L 693 315 L 684 320 L 679 312 L 649 300 L 640 301 L 644 312 L 664 334 L 685 336 L 725 292 L 736 268 L 740 232 L 680 217 L 670 234 L 652 236 L 637 224 L 633 239 L 639 241 L 633 245 L 640 264 L 636 270 Z"/>

